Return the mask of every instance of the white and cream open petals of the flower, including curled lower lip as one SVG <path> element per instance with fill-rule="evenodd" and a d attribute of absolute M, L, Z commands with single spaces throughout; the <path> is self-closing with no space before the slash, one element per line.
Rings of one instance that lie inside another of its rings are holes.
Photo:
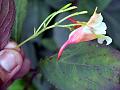
<path fill-rule="evenodd" d="M 96 13 L 97 8 L 95 9 L 94 14 L 91 16 L 90 20 L 87 23 L 87 28 L 98 38 L 98 43 L 102 44 L 106 41 L 106 45 L 109 45 L 112 42 L 112 39 L 109 36 L 105 36 L 107 26 L 103 22 L 103 16 L 101 13 Z"/>

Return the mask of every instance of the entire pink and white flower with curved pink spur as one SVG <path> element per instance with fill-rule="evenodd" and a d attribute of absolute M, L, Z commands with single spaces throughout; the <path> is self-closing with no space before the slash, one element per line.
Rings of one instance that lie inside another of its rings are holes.
<path fill-rule="evenodd" d="M 98 43 L 103 44 L 106 41 L 106 45 L 109 45 L 112 42 L 112 39 L 109 36 L 105 36 L 107 26 L 103 22 L 103 17 L 101 13 L 96 13 L 97 8 L 94 11 L 94 14 L 91 16 L 86 24 L 72 31 L 69 35 L 68 40 L 63 44 L 58 53 L 58 60 L 60 59 L 63 50 L 69 44 L 77 44 L 80 42 L 90 41 L 97 39 Z M 76 23 L 76 22 L 75 22 Z M 79 22 L 78 22 L 79 23 Z"/>

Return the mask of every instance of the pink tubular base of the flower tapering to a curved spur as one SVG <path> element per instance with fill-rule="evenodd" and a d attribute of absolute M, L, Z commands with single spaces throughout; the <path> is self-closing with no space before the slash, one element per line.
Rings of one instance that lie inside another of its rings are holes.
<path fill-rule="evenodd" d="M 63 44 L 63 46 L 60 48 L 57 60 L 60 59 L 64 49 L 69 45 L 69 44 L 77 44 L 80 42 L 85 42 L 85 41 L 90 41 L 96 39 L 96 35 L 93 34 L 90 30 L 89 27 L 80 27 L 74 31 L 72 31 L 69 35 L 68 40 Z"/>

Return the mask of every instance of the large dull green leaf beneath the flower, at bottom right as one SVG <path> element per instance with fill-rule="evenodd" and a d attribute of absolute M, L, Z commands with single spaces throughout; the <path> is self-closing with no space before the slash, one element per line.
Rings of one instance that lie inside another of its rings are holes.
<path fill-rule="evenodd" d="M 44 77 L 60 90 L 119 90 L 120 52 L 80 43 L 71 45 L 62 55 L 42 60 Z"/>

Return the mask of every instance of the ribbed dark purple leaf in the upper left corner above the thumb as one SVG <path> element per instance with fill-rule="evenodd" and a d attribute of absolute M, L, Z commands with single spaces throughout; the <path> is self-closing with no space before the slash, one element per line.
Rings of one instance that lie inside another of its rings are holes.
<path fill-rule="evenodd" d="M 0 50 L 8 43 L 15 19 L 14 0 L 0 0 Z"/>

